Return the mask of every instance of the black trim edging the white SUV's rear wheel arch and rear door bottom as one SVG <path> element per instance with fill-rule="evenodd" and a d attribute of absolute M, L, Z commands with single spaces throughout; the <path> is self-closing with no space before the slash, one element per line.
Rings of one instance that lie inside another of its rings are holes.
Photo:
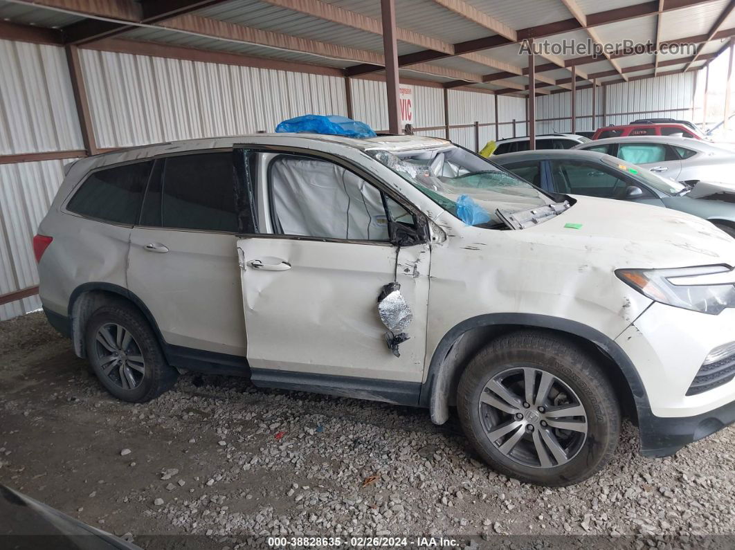
<path fill-rule="evenodd" d="M 165 355 L 166 361 L 171 366 L 178 366 L 181 369 L 189 369 L 196 372 L 204 372 L 207 374 L 231 374 L 234 376 L 249 376 L 250 369 L 248 367 L 248 360 L 240 355 L 229 355 L 227 353 L 210 352 L 206 350 L 197 350 L 196 348 L 175 346 L 168 344 L 163 339 L 161 330 L 158 328 L 158 323 L 154 319 L 151 311 L 140 300 L 133 292 L 123 286 L 111 284 L 111 283 L 85 283 L 81 286 L 76 287 L 74 292 L 71 293 L 69 298 L 68 311 L 73 308 L 74 302 L 84 292 L 90 292 L 93 290 L 102 290 L 105 292 L 111 292 L 112 294 L 118 294 L 122 297 L 127 298 L 135 306 L 140 309 L 143 316 L 151 325 L 156 338 L 158 339 L 163 355 Z M 67 317 L 66 319 L 69 319 Z M 51 323 L 53 325 L 53 323 Z M 68 321 L 69 334 L 71 335 L 71 322 Z"/>

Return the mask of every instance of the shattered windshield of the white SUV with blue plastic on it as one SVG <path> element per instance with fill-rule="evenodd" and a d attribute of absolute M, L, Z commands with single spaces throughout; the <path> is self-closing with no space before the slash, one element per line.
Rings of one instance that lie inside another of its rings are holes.
<path fill-rule="evenodd" d="M 504 225 L 498 209 L 514 214 L 553 203 L 527 181 L 456 145 L 368 154 L 467 225 Z"/>

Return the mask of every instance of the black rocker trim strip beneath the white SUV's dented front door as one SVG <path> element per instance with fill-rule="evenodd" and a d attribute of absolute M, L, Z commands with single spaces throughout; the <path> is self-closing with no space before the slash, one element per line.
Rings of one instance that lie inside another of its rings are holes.
<path fill-rule="evenodd" d="M 251 381 L 259 388 L 311 391 L 355 399 L 371 399 L 396 405 L 416 406 L 420 382 L 379 380 L 355 376 L 334 376 L 276 369 L 251 369 Z"/>

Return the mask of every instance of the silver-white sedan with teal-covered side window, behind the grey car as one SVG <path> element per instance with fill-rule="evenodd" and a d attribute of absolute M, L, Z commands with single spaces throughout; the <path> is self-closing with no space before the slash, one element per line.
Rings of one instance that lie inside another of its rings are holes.
<path fill-rule="evenodd" d="M 735 153 L 688 137 L 608 137 L 576 145 L 580 151 L 617 156 L 648 168 L 664 178 L 697 184 L 699 181 L 735 184 Z"/>

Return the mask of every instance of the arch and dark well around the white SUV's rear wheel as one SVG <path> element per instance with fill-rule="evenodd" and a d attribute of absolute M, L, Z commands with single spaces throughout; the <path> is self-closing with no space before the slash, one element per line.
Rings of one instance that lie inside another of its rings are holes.
<path fill-rule="evenodd" d="M 74 352 L 80 358 L 87 356 L 84 343 L 84 328 L 90 315 L 103 303 L 110 300 L 124 300 L 137 308 L 146 317 L 159 344 L 165 350 L 165 341 L 151 311 L 134 293 L 123 286 L 112 283 L 84 283 L 77 286 L 69 297 L 68 316 L 71 320 L 71 341 Z"/>

